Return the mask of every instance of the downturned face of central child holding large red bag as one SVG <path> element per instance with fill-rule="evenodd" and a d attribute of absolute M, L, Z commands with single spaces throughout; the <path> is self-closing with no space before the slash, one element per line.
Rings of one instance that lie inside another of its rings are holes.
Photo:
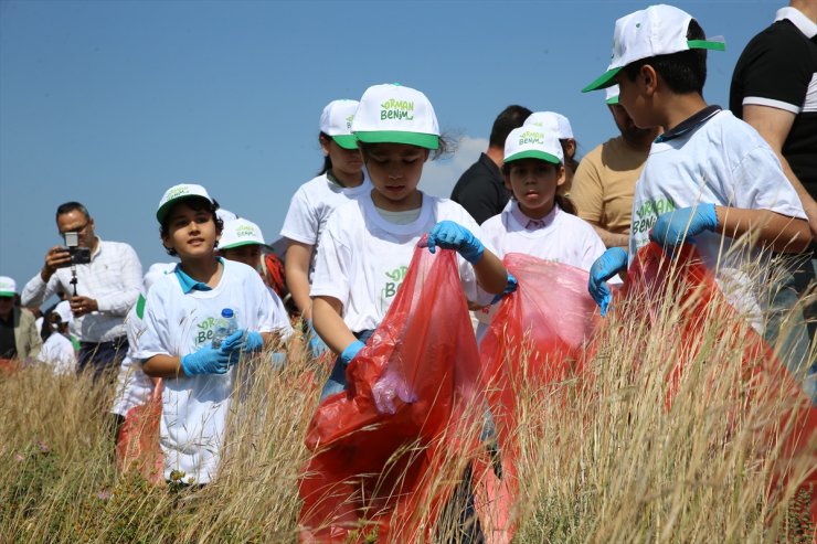
<path fill-rule="evenodd" d="M 374 185 L 374 204 L 392 212 L 420 207 L 417 184 L 427 158 L 427 149 L 405 143 L 373 143 L 368 148 L 365 166 Z"/>

